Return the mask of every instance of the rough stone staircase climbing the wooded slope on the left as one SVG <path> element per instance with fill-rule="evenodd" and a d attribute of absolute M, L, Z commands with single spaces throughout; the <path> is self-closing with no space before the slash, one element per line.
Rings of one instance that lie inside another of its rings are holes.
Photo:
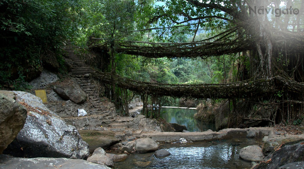
<path fill-rule="evenodd" d="M 65 48 L 65 55 L 68 59 L 71 59 L 77 67 L 72 70 L 72 77 L 77 80 L 77 83 L 81 89 L 87 94 L 88 100 L 85 107 L 88 116 L 83 117 L 64 117 L 65 121 L 77 128 L 82 127 L 108 127 L 111 123 L 114 123 L 114 117 L 116 116 L 116 109 L 113 103 L 108 101 L 101 102 L 101 98 L 98 96 L 98 92 L 95 89 L 95 85 L 91 83 L 89 79 L 90 73 L 94 70 L 86 65 L 82 59 L 80 59 L 74 52 L 75 47 L 68 44 Z"/>

